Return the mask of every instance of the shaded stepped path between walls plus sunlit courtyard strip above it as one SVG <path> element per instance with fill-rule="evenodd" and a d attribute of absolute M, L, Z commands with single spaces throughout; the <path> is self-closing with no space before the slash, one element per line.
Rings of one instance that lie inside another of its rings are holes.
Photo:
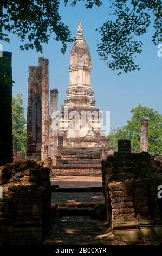
<path fill-rule="evenodd" d="M 114 240 L 108 228 L 101 177 L 56 176 L 51 184 L 51 216 L 43 245 L 126 245 Z"/>

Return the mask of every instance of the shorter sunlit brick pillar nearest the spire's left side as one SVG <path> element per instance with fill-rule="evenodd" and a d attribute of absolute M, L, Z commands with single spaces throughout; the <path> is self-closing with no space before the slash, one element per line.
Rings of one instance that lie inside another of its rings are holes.
<path fill-rule="evenodd" d="M 48 155 L 51 156 L 52 165 L 56 166 L 56 153 L 57 153 L 57 130 L 55 126 L 52 127 L 56 115 L 53 113 L 57 111 L 58 108 L 58 90 L 50 90 L 50 114 L 49 114 L 49 142 L 48 142 Z"/>

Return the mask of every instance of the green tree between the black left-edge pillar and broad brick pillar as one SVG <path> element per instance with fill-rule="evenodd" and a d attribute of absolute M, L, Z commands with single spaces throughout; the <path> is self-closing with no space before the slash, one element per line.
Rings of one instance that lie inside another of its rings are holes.
<path fill-rule="evenodd" d="M 27 129 L 25 125 L 22 94 L 17 94 L 12 97 L 12 134 L 17 142 L 18 151 L 26 151 Z"/>

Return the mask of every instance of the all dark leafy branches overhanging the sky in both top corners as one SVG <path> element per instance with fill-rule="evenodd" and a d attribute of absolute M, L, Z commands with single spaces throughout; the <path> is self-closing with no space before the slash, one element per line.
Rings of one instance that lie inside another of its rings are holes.
<path fill-rule="evenodd" d="M 85 7 L 100 7 L 100 0 L 64 0 L 64 4 L 75 6 L 86 2 Z M 8 33 L 14 33 L 22 41 L 21 50 L 29 48 L 42 52 L 42 44 L 50 36 L 61 41 L 66 50 L 67 42 L 72 42 L 68 26 L 61 22 L 60 0 L 1 0 L 0 3 L 0 40 L 10 42 Z M 161 0 L 109 0 L 108 20 L 99 29 L 101 42 L 98 53 L 112 70 L 129 72 L 139 70 L 135 63 L 137 54 L 142 52 L 140 36 L 154 27 L 152 42 L 162 41 L 162 2 Z M 0 65 L 1 63 L 0 58 Z M 119 72 L 118 74 L 121 74 Z M 0 73 L 1 75 L 1 73 Z"/>

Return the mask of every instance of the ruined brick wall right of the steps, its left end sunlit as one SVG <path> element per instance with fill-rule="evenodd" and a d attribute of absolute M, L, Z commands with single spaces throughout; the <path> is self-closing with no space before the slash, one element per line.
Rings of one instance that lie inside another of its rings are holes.
<path fill-rule="evenodd" d="M 116 152 L 102 161 L 109 225 L 116 240 L 158 244 L 162 238 L 162 164 L 148 153 Z"/>

